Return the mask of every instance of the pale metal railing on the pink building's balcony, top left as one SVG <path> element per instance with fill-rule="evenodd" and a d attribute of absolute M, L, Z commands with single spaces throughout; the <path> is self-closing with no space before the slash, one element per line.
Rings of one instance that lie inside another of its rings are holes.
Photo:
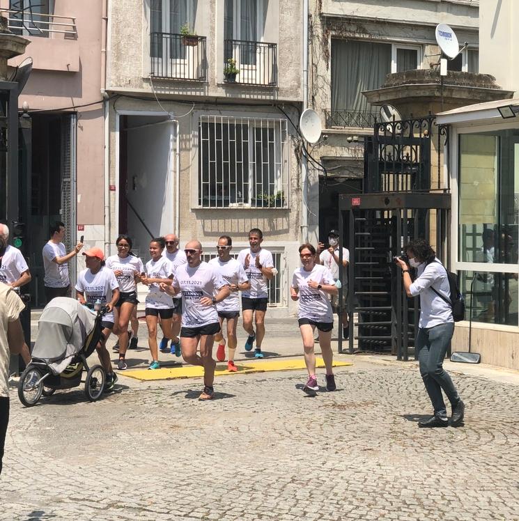
<path fill-rule="evenodd" d="M 2 9 L 1 15 L 8 20 L 8 28 L 15 34 L 59 38 L 77 38 L 75 17 L 47 13 L 32 13 L 30 10 Z"/>

